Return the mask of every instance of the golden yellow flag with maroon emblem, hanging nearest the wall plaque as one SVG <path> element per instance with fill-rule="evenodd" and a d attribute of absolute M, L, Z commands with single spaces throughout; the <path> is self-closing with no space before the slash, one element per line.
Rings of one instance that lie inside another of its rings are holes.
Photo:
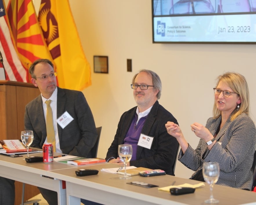
<path fill-rule="evenodd" d="M 82 90 L 91 85 L 90 65 L 68 0 L 42 0 L 38 21 L 56 65 L 59 87 Z"/>

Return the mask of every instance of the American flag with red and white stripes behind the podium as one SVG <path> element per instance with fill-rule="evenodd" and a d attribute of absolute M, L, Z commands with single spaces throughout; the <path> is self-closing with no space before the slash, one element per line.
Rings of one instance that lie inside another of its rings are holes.
<path fill-rule="evenodd" d="M 6 9 L 3 0 L 0 0 L 0 73 L 5 68 L 6 80 L 27 82 L 28 70 L 23 67 L 16 49 L 12 43 Z M 4 80 L 4 79 L 1 79 Z"/>

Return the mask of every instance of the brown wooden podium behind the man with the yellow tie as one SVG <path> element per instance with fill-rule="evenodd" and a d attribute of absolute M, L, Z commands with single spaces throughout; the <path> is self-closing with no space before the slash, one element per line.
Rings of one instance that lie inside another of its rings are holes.
<path fill-rule="evenodd" d="M 32 83 L 0 80 L 0 140 L 21 139 L 25 107 L 40 91 Z M 24 200 L 39 194 L 37 187 L 26 184 Z M 15 182 L 15 205 L 21 204 L 22 183 Z"/>

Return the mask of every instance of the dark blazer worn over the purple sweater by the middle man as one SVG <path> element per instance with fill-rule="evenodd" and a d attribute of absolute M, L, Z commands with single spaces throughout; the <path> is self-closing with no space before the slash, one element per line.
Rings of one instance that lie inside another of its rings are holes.
<path fill-rule="evenodd" d="M 132 118 L 136 114 L 136 107 L 126 111 L 120 118 L 115 138 L 108 149 L 106 160 L 111 157 L 117 158 L 118 145 L 124 144 L 124 138 L 131 125 Z M 150 169 L 162 169 L 169 175 L 174 175 L 173 164 L 175 162 L 176 153 L 179 147 L 177 140 L 170 136 L 165 128 L 167 121 L 177 123 L 177 120 L 170 112 L 164 109 L 156 101 L 150 110 L 142 133 L 154 137 L 151 149 L 137 146 L 136 160 L 130 161 L 130 166 L 146 167 Z"/>

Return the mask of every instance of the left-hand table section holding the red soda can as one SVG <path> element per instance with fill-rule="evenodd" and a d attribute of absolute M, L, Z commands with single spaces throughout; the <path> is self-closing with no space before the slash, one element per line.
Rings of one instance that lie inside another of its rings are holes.
<path fill-rule="evenodd" d="M 31 153 L 30 155 L 42 156 L 42 153 Z M 0 176 L 57 191 L 58 204 L 65 205 L 67 203 L 65 183 L 58 178 L 50 178 L 48 173 L 51 170 L 65 169 L 69 165 L 58 162 L 51 164 L 27 163 L 24 160 L 25 156 L 26 154 L 23 157 L 11 158 L 7 155 L 0 155 Z"/>

